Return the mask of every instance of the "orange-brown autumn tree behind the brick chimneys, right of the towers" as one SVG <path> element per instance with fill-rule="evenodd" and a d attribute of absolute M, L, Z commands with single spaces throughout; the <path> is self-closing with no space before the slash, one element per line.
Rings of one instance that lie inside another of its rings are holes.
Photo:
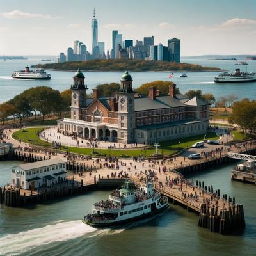
<path fill-rule="evenodd" d="M 141 95 L 148 95 L 150 86 L 155 86 L 156 90 L 159 90 L 161 94 L 167 95 L 169 93 L 169 84 L 169 81 L 157 80 L 150 83 L 141 84 L 141 86 L 136 88 L 136 92 L 140 93 Z M 179 88 L 176 88 L 176 93 L 180 93 Z"/>

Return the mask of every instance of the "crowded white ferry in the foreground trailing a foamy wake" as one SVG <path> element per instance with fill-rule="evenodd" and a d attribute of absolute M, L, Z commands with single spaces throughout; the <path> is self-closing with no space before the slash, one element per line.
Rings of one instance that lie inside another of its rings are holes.
<path fill-rule="evenodd" d="M 84 216 L 83 222 L 93 227 L 108 227 L 146 218 L 168 208 L 168 198 L 154 190 L 151 182 L 136 188 L 127 180 L 122 189 L 116 189 L 108 200 L 92 207 L 92 214 Z"/>

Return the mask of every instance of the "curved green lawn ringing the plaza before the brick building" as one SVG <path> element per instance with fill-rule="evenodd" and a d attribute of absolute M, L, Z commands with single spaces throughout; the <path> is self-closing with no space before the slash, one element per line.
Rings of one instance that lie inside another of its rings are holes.
<path fill-rule="evenodd" d="M 47 143 L 46 141 L 40 140 L 37 136 L 37 132 L 44 129 L 44 127 L 36 127 L 36 128 L 26 128 L 20 129 L 17 132 L 13 133 L 13 138 L 16 140 L 22 140 L 26 143 L 30 143 L 33 145 L 38 145 L 42 147 L 51 147 L 51 143 Z M 214 132 L 207 132 L 206 139 L 216 140 L 219 137 Z M 196 141 L 204 140 L 204 135 L 193 136 L 189 138 L 181 138 L 179 140 L 171 140 L 171 141 L 163 141 L 159 144 L 161 147 L 159 148 L 159 153 L 163 153 L 165 156 L 177 154 L 182 150 L 182 148 L 191 147 Z M 150 156 L 156 152 L 156 149 L 151 145 L 147 149 L 131 149 L 131 150 L 107 150 L 107 149 L 99 149 L 95 148 L 95 154 L 93 154 L 93 148 L 78 148 L 78 147 L 69 147 L 69 146 L 62 146 L 61 150 L 73 152 L 77 154 L 84 154 L 84 155 L 94 155 L 97 154 L 101 155 L 111 155 L 111 156 L 118 156 L 118 157 L 132 157 L 138 156 L 142 154 L 143 156 Z"/>

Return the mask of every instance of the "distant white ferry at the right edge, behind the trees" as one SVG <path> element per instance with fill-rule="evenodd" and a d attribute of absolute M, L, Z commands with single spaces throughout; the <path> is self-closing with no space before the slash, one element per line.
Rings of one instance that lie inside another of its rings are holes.
<path fill-rule="evenodd" d="M 245 72 L 241 72 L 240 68 L 236 68 L 234 73 L 223 72 L 218 77 L 214 77 L 215 83 L 237 83 L 237 82 L 252 82 L 256 81 L 255 72 L 247 72 L 248 63 L 241 61 L 235 65 L 242 65 L 246 67 Z"/>

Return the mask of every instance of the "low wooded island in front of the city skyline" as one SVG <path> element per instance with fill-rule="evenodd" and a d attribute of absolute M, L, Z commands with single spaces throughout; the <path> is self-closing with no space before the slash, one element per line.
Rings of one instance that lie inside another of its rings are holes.
<path fill-rule="evenodd" d="M 203 67 L 201 65 L 189 63 L 176 63 L 167 61 L 151 60 L 88 60 L 88 61 L 68 61 L 63 63 L 38 64 L 36 68 L 47 70 L 76 71 L 80 68 L 84 71 L 124 71 L 127 67 L 133 72 L 198 72 L 198 71 L 221 71 L 218 67 Z"/>

